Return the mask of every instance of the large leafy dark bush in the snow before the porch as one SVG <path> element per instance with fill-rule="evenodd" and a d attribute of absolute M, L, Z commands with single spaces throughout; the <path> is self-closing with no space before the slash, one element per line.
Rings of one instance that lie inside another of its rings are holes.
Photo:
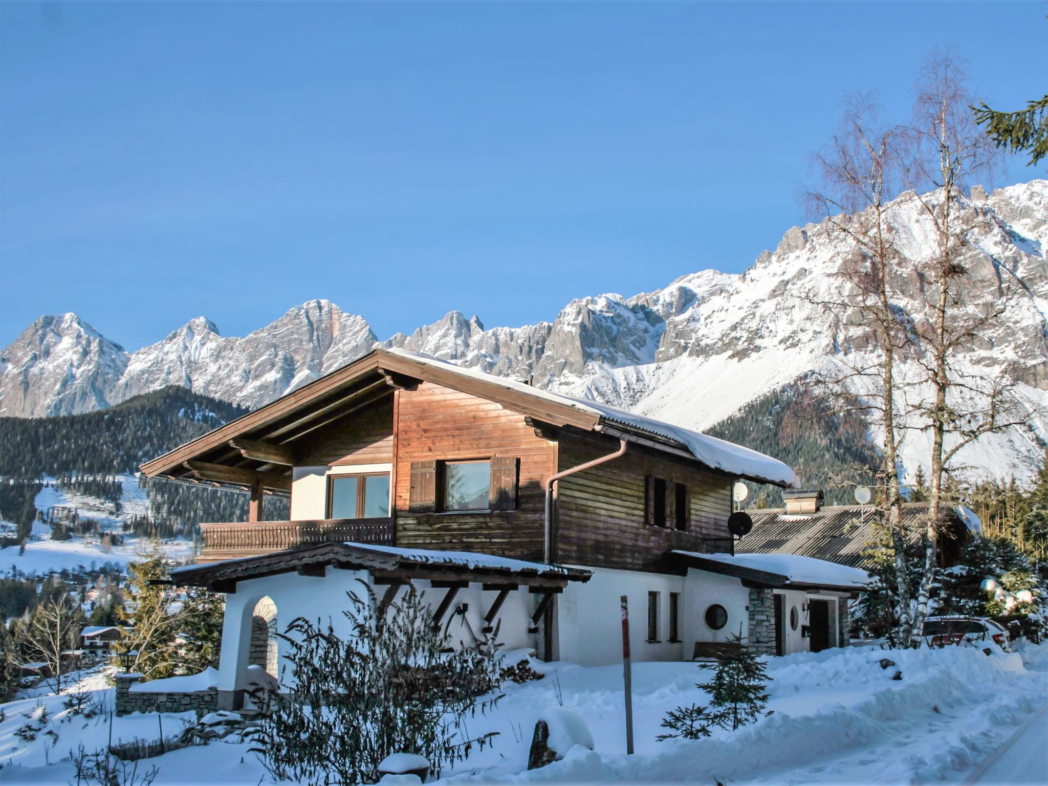
<path fill-rule="evenodd" d="M 464 721 L 501 698 L 480 699 L 499 686 L 497 645 L 451 650 L 411 585 L 379 619 L 373 591 L 361 584 L 363 596 L 346 593 L 347 639 L 330 621 L 322 628 L 303 617 L 281 634 L 294 695 L 258 692 L 269 714 L 253 747 L 277 780 L 374 783 L 378 763 L 401 751 L 424 757 L 439 774 L 495 736 L 471 739 Z"/>

